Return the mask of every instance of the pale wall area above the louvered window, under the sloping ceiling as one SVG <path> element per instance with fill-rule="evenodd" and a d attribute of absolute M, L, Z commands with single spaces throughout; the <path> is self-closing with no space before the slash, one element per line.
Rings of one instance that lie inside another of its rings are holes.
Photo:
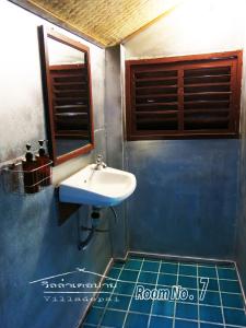
<path fill-rule="evenodd" d="M 186 0 L 126 42 L 126 57 L 148 58 L 243 47 L 244 0 Z"/>

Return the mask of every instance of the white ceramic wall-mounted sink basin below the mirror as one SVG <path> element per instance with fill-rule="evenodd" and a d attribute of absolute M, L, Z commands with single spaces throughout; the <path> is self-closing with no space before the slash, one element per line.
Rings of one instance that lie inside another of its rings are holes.
<path fill-rule="evenodd" d="M 59 187 L 61 202 L 112 207 L 128 198 L 136 189 L 133 174 L 112 167 L 94 169 L 95 164 L 87 165 Z"/>

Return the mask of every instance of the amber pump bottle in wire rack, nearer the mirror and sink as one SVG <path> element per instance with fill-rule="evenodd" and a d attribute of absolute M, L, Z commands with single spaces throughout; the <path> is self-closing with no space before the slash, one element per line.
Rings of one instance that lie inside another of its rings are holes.
<path fill-rule="evenodd" d="M 38 165 L 38 178 L 40 186 L 49 186 L 51 184 L 51 169 L 50 169 L 50 160 L 49 155 L 44 149 L 45 140 L 38 140 L 39 150 L 38 155 L 36 155 L 36 161 Z"/>

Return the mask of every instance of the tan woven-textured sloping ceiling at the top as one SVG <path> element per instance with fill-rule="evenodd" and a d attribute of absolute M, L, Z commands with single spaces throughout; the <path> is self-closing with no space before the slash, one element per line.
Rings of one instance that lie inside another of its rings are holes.
<path fill-rule="evenodd" d="M 142 31 L 180 0 L 26 0 L 89 39 L 107 47 Z"/>

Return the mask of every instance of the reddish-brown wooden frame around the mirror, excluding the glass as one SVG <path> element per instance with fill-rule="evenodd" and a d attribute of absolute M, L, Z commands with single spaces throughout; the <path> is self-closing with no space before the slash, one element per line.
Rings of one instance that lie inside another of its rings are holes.
<path fill-rule="evenodd" d="M 49 141 L 48 151 L 49 151 L 50 159 L 54 162 L 54 165 L 58 165 L 79 155 L 89 153 L 91 150 L 94 149 L 94 125 L 93 125 L 90 49 L 89 47 L 82 45 L 81 43 L 73 40 L 65 35 L 61 35 L 60 33 L 54 31 L 52 28 L 47 28 L 43 25 L 38 26 L 38 38 L 39 38 L 39 51 L 40 51 L 40 60 L 42 60 L 43 94 L 44 94 L 46 120 L 48 122 L 48 128 L 47 128 L 48 141 Z M 48 54 L 48 43 L 47 43 L 48 38 L 51 38 L 66 46 L 82 51 L 85 55 L 86 65 L 87 65 L 90 142 L 86 145 L 83 145 L 79 149 L 75 149 L 74 151 L 71 151 L 60 156 L 56 155 L 52 91 L 51 91 L 51 83 L 50 83 L 49 54 Z"/>

